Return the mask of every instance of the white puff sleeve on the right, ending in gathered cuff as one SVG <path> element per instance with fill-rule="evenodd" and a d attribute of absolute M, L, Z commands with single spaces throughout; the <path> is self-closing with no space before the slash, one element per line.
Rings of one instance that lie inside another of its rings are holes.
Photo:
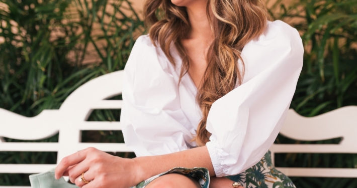
<path fill-rule="evenodd" d="M 255 165 L 283 125 L 303 65 L 299 33 L 281 21 L 242 51 L 243 83 L 213 103 L 206 144 L 216 176 L 234 175 Z"/>

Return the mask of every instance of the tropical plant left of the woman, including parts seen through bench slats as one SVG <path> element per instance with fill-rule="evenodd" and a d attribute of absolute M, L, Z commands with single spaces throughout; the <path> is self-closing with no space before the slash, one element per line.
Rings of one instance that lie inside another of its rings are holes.
<path fill-rule="evenodd" d="M 135 35 L 143 32 L 126 0 L 0 0 L 0 107 L 29 117 L 58 109 L 83 83 L 123 69 Z M 118 110 L 95 110 L 89 120 L 119 116 Z M 42 141 L 56 142 L 58 135 Z M 82 141 L 123 139 L 118 131 L 86 131 Z M 0 153 L 0 163 L 55 161 L 51 152 Z M 28 174 L 0 174 L 0 185 L 29 185 Z"/>

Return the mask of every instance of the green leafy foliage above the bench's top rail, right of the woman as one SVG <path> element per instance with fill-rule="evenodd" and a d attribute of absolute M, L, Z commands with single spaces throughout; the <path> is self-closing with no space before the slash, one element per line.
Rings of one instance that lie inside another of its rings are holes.
<path fill-rule="evenodd" d="M 280 2 L 271 12 L 298 29 L 305 46 L 291 108 L 315 116 L 357 105 L 357 1 L 301 0 L 290 7 Z"/>

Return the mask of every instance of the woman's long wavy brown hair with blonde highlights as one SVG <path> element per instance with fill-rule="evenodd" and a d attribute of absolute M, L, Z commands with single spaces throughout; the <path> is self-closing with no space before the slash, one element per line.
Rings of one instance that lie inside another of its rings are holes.
<path fill-rule="evenodd" d="M 170 48 L 174 44 L 183 60 L 181 79 L 190 68 L 190 58 L 182 43 L 190 31 L 186 8 L 177 7 L 170 0 L 146 0 L 144 17 L 152 43 L 159 45 L 173 65 Z M 203 115 L 193 139 L 198 146 L 209 141 L 211 134 L 206 129 L 206 122 L 212 104 L 242 83 L 243 47 L 264 32 L 269 19 L 262 0 L 208 0 L 207 17 L 211 21 L 214 40 L 207 53 L 207 69 L 197 94 Z"/>

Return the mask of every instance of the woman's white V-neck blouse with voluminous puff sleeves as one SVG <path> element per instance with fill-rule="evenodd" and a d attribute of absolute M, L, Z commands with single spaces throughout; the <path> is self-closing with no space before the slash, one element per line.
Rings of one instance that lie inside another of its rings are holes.
<path fill-rule="evenodd" d="M 122 131 L 137 156 L 196 147 L 191 139 L 202 118 L 197 88 L 186 74 L 179 84 L 181 58 L 174 67 L 148 36 L 137 39 L 124 69 Z M 243 83 L 213 103 L 206 144 L 217 177 L 255 165 L 277 137 L 303 65 L 298 31 L 282 21 L 245 45 Z M 239 65 L 241 62 L 238 61 Z"/>

